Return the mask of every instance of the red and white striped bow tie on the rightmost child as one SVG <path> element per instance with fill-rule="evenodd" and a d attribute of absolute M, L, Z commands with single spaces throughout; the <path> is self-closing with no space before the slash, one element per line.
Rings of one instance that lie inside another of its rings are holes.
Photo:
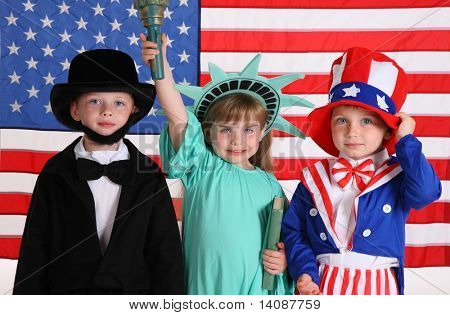
<path fill-rule="evenodd" d="M 358 166 L 353 167 L 346 159 L 339 158 L 334 164 L 331 173 L 342 189 L 350 188 L 353 180 L 355 180 L 359 191 L 363 191 L 375 173 L 375 165 L 371 159 L 367 159 Z"/>

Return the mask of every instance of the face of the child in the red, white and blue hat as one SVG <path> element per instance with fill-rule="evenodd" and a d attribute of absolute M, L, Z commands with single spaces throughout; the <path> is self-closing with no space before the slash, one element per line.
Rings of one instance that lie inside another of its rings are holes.
<path fill-rule="evenodd" d="M 333 109 L 331 133 L 339 152 L 354 160 L 378 152 L 383 141 L 391 136 L 388 126 L 376 113 L 348 105 Z"/>

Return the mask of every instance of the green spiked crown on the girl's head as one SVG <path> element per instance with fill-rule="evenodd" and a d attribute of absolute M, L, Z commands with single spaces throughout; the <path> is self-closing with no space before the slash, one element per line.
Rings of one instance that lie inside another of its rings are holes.
<path fill-rule="evenodd" d="M 257 54 L 240 73 L 225 73 L 217 65 L 209 63 L 211 82 L 203 87 L 176 84 L 178 91 L 194 100 L 189 108 L 199 122 L 205 119 L 206 112 L 220 97 L 231 93 L 244 93 L 256 98 L 268 113 L 266 135 L 270 129 L 278 129 L 291 135 L 305 138 L 304 134 L 290 122 L 279 116 L 281 108 L 302 106 L 313 108 L 307 100 L 294 95 L 283 95 L 281 89 L 304 78 L 302 74 L 288 74 L 272 79 L 258 75 L 261 54 Z"/>

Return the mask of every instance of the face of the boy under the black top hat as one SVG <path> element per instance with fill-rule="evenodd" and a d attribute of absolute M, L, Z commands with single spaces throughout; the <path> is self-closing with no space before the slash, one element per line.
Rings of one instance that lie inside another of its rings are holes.
<path fill-rule="evenodd" d="M 123 127 L 137 111 L 133 97 L 126 92 L 84 93 L 70 104 L 72 118 L 102 136 Z"/>

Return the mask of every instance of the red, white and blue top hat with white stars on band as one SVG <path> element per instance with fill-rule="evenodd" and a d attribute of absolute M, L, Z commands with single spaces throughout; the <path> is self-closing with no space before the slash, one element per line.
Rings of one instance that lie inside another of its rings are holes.
<path fill-rule="evenodd" d="M 329 82 L 329 103 L 308 115 L 308 135 L 323 150 L 339 156 L 331 135 L 331 113 L 339 105 L 359 106 L 377 113 L 395 131 L 400 119 L 395 114 L 407 93 L 405 71 L 391 58 L 362 47 L 348 49 L 333 62 Z M 395 152 L 394 134 L 385 140 L 389 154 Z"/>

